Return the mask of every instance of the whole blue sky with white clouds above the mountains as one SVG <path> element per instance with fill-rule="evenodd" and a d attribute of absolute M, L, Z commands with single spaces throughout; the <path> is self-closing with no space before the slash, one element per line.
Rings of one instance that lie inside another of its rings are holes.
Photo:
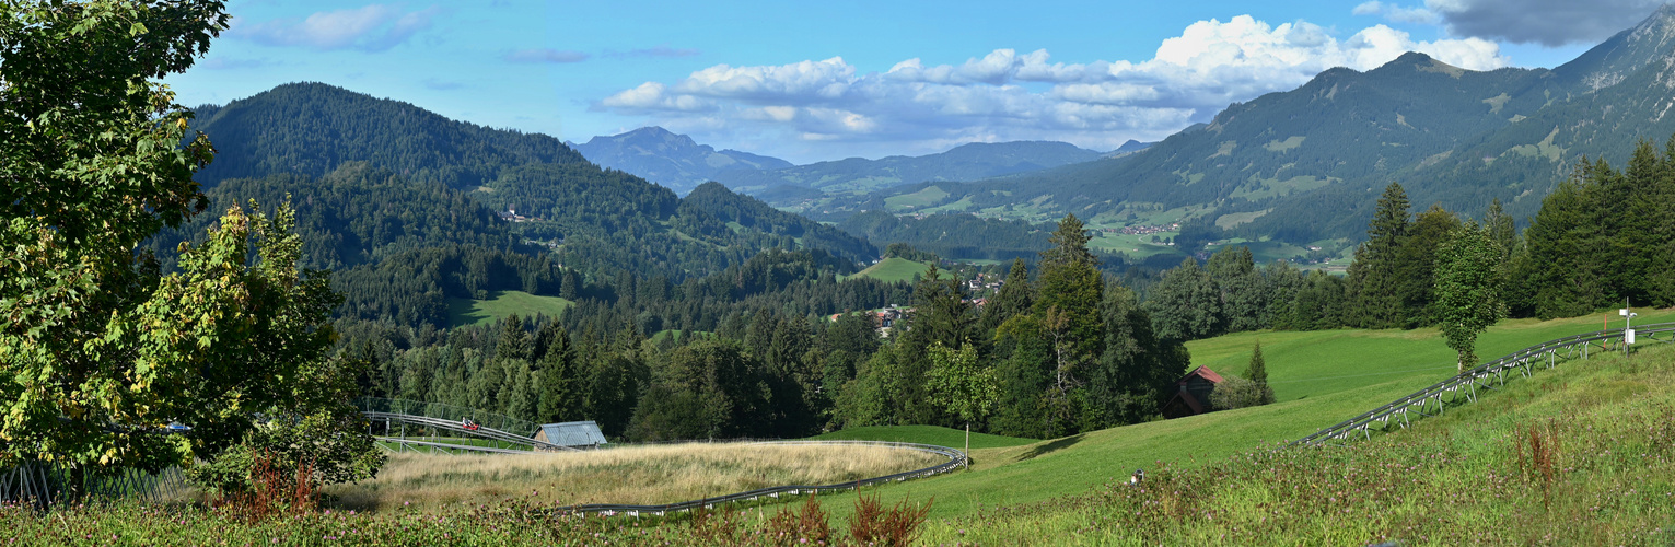
<path fill-rule="evenodd" d="M 814 162 L 973 141 L 1156 141 L 1229 102 L 1405 50 L 1553 67 L 1647 0 L 276 2 L 168 82 L 226 104 L 327 82 L 585 142 L 663 125 Z"/>

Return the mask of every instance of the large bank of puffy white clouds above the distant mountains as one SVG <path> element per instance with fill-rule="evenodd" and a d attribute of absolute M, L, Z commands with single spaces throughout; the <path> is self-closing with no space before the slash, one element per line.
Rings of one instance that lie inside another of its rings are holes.
<path fill-rule="evenodd" d="M 714 65 L 677 82 L 645 82 L 595 104 L 709 141 L 770 154 L 796 141 L 851 151 L 931 152 L 948 142 L 1069 141 L 1114 149 L 1206 120 L 1231 102 L 1290 90 L 1332 67 L 1375 69 L 1417 50 L 1472 70 L 1508 64 L 1492 42 L 1419 42 L 1374 25 L 1347 38 L 1306 22 L 1248 15 L 1189 25 L 1142 62 L 1052 62 L 1047 50 L 1000 49 L 956 65 L 898 62 L 863 72 L 841 57 L 786 65 Z"/>

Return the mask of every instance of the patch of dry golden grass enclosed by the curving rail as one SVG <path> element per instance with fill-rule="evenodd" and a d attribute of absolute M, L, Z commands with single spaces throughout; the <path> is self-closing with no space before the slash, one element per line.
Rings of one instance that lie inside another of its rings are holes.
<path fill-rule="evenodd" d="M 829 485 L 940 463 L 844 445 L 690 443 L 553 455 L 395 453 L 379 478 L 328 490 L 345 507 L 439 509 L 536 495 L 554 504 L 670 504 L 779 485 Z"/>

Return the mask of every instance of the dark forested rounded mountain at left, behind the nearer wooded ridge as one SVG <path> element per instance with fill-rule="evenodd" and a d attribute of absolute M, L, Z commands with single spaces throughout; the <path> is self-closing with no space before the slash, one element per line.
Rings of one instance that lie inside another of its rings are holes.
<path fill-rule="evenodd" d="M 456 122 L 327 84 L 285 84 L 194 114 L 193 129 L 216 146 L 214 162 L 194 177 L 206 187 L 280 172 L 320 177 L 363 161 L 412 181 L 471 189 L 514 166 L 586 162 L 549 135 Z"/>

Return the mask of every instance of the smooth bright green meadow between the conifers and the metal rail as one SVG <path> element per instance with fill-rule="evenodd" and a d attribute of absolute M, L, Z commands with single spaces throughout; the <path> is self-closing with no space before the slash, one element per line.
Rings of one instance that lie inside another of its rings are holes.
<path fill-rule="evenodd" d="M 1642 311 L 1636 323 L 1675 320 Z M 1491 360 L 1524 346 L 1600 330 L 1600 318 L 1502 321 L 1479 338 Z M 1621 326 L 1618 318 L 1613 326 Z M 1139 423 L 1018 447 L 973 448 L 972 472 L 879 490 L 886 500 L 936 497 L 933 517 L 980 507 L 1037 504 L 1079 495 L 1136 468 L 1198 468 L 1256 447 L 1290 442 L 1454 375 L 1454 355 L 1435 330 L 1241 333 L 1189 343 L 1194 365 L 1241 375 L 1251 343 L 1263 341 L 1280 401 L 1268 406 Z M 1573 366 L 1585 368 L 1585 366 Z M 843 514 L 853 498 L 827 507 Z M 1003 542 L 1002 542 L 1003 544 Z"/>

